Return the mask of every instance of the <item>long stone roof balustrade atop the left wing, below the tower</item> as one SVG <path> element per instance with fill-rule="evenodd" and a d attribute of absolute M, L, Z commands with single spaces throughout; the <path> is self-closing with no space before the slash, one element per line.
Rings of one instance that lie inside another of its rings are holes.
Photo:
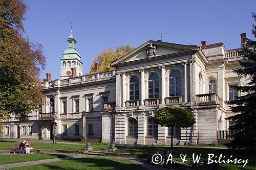
<path fill-rule="evenodd" d="M 82 84 L 87 83 L 91 81 L 101 81 L 101 80 L 108 80 L 115 78 L 116 71 L 109 71 L 109 72 L 101 72 L 94 75 L 83 75 L 80 77 L 74 77 L 70 79 L 64 79 L 64 80 L 54 80 L 50 82 L 45 82 L 43 84 L 44 88 L 51 88 L 51 87 L 61 87 L 61 86 L 68 86 L 68 85 L 74 85 L 74 84 Z"/>

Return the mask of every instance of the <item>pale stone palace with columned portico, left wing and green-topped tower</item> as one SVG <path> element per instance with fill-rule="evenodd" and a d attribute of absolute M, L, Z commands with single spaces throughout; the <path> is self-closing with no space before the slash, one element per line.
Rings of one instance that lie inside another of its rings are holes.
<path fill-rule="evenodd" d="M 241 46 L 246 34 L 241 34 Z M 116 70 L 83 75 L 82 62 L 71 35 L 61 59 L 60 79 L 44 79 L 42 112 L 28 122 L 10 115 L 3 138 L 95 139 L 120 144 L 170 144 L 171 131 L 158 126 L 155 111 L 165 106 L 188 109 L 193 127 L 175 128 L 175 144 L 209 144 L 226 139 L 234 115 L 225 103 L 243 95 L 233 86 L 249 78 L 234 74 L 240 67 L 241 46 L 224 43 L 200 46 L 147 41 L 111 64 Z"/>

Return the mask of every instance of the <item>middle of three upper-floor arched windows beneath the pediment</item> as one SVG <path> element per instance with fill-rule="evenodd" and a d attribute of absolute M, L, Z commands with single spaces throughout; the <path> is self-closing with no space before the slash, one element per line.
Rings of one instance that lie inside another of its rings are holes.
<path fill-rule="evenodd" d="M 148 98 L 159 98 L 159 78 L 157 74 L 152 74 L 148 78 Z"/>

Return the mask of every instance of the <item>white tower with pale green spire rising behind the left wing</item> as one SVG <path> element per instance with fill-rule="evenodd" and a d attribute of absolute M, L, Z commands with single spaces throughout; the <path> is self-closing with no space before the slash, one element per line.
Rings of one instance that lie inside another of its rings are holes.
<path fill-rule="evenodd" d="M 76 51 L 76 39 L 73 36 L 72 26 L 67 42 L 67 50 L 63 52 L 63 58 L 61 59 L 60 80 L 68 79 L 70 76 L 82 76 L 82 62 L 79 53 Z"/>

